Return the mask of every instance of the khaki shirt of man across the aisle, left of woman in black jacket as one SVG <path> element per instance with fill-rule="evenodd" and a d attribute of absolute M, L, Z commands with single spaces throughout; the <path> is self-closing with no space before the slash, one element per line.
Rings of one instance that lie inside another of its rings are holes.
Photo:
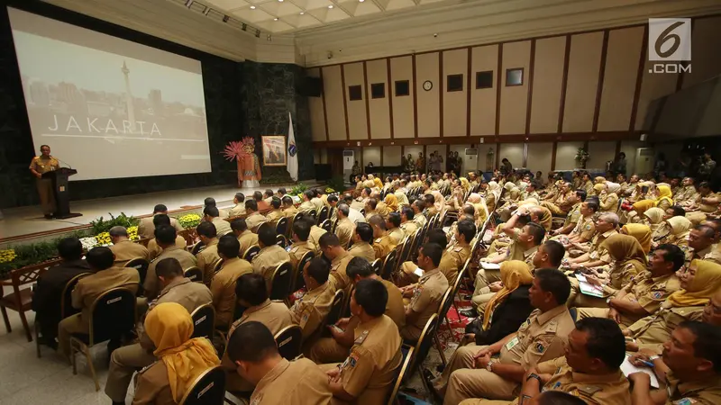
<path fill-rule="evenodd" d="M 412 336 L 420 336 L 431 316 L 438 311 L 443 295 L 448 290 L 448 280 L 437 268 L 425 272 L 413 291 L 410 308 L 419 315 L 415 324 L 406 324 L 404 329 Z M 405 335 L 404 335 L 405 336 Z"/>

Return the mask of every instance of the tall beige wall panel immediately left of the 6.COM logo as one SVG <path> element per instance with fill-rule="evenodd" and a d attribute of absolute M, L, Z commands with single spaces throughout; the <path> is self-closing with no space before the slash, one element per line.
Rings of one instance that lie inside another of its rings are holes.
<path fill-rule="evenodd" d="M 628 130 L 634 107 L 638 58 L 643 44 L 643 27 L 608 33 L 598 130 Z"/>

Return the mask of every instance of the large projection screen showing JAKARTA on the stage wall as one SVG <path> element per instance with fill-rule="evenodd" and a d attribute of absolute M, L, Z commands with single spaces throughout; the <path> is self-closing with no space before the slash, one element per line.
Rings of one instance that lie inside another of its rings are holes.
<path fill-rule="evenodd" d="M 211 171 L 200 61 L 8 7 L 35 153 L 71 180 Z"/>

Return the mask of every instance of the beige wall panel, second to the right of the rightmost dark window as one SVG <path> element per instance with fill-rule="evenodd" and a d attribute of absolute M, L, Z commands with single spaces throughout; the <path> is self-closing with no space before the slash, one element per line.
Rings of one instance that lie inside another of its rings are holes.
<path fill-rule="evenodd" d="M 587 132 L 593 128 L 602 46 L 602 31 L 570 37 L 563 132 Z"/>

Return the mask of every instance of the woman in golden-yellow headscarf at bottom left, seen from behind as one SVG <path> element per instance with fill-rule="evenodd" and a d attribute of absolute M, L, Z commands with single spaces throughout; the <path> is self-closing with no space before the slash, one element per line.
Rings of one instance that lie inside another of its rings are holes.
<path fill-rule="evenodd" d="M 220 359 L 208 339 L 190 338 L 193 319 L 176 302 L 159 304 L 148 313 L 144 325 L 159 360 L 138 373 L 132 403 L 177 404 L 197 376 L 219 365 Z"/>

